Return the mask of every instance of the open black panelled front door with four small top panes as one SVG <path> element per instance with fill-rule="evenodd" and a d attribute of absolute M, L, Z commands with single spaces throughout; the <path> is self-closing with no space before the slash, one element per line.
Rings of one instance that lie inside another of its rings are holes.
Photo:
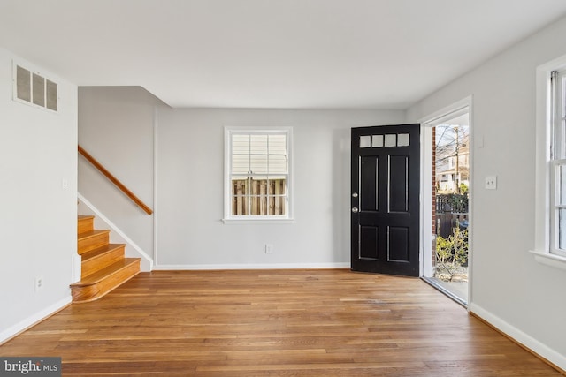
<path fill-rule="evenodd" d="M 419 275 L 420 124 L 352 128 L 352 270 Z"/>

